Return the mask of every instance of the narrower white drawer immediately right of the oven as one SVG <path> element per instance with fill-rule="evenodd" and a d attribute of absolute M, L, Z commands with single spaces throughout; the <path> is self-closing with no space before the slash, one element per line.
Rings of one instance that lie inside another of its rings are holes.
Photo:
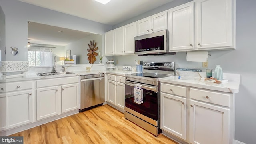
<path fill-rule="evenodd" d="M 163 84 L 161 83 L 161 92 L 166 92 L 169 94 L 175 94 L 178 96 L 186 97 L 187 88 L 182 86 L 174 86 L 171 84 Z"/>

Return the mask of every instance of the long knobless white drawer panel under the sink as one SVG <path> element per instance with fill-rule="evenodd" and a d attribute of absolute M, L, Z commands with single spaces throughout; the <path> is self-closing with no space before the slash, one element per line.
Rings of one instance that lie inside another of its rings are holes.
<path fill-rule="evenodd" d="M 45 86 L 56 86 L 56 85 L 62 85 L 62 84 L 72 84 L 72 83 L 79 83 L 79 76 L 37 80 L 36 88 L 42 88 Z"/>

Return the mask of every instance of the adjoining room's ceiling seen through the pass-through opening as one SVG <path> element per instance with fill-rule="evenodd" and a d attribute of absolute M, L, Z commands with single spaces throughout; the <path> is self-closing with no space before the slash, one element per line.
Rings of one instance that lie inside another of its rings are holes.
<path fill-rule="evenodd" d="M 34 44 L 34 46 L 35 44 L 66 46 L 71 42 L 80 40 L 91 34 L 89 32 L 81 32 L 36 22 L 28 23 L 28 42 Z"/>

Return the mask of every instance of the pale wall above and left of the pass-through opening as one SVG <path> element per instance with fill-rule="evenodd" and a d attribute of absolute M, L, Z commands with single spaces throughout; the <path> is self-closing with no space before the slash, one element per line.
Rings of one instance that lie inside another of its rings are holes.
<path fill-rule="evenodd" d="M 54 10 L 34 6 L 17 0 L 0 0 L 0 6 L 5 15 L 4 37 L 6 40 L 4 43 L 5 45 L 1 45 L 2 51 L 4 51 L 4 47 L 6 47 L 5 60 L 28 59 L 26 48 L 28 38 L 27 21 L 95 34 L 104 34 L 104 32 L 112 29 L 112 26 L 110 25 L 78 18 L 76 16 L 56 12 Z M 10 54 L 11 46 L 19 48 L 19 53 L 16 56 Z M 4 57 L 2 56 L 2 58 Z"/>

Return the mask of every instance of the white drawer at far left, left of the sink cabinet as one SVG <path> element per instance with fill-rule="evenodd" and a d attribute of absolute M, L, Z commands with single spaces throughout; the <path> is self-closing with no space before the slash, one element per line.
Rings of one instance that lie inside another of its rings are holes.
<path fill-rule="evenodd" d="M 0 84 L 0 92 L 11 92 L 15 90 L 26 90 L 33 88 L 32 81 L 26 82 L 8 82 Z"/>

